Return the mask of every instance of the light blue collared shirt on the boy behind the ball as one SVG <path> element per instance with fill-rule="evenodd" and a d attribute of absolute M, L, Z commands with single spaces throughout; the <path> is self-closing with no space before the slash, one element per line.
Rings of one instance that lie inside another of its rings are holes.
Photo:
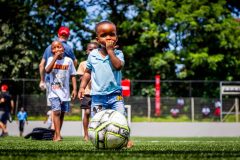
<path fill-rule="evenodd" d="M 115 55 L 124 65 L 124 55 L 120 50 L 114 50 Z M 87 69 L 91 70 L 91 95 L 108 95 L 116 91 L 121 91 L 121 70 L 116 70 L 112 66 L 110 57 L 102 57 L 98 49 L 90 52 L 87 59 Z"/>

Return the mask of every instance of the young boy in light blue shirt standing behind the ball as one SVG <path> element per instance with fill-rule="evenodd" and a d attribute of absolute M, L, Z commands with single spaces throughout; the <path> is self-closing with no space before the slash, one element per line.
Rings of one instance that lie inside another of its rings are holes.
<path fill-rule="evenodd" d="M 92 116 L 104 109 L 113 109 L 126 115 L 121 87 L 124 55 L 121 50 L 116 49 L 116 25 L 110 21 L 102 21 L 96 25 L 95 31 L 100 47 L 91 51 L 88 56 L 78 98 L 83 99 L 85 88 L 91 79 Z M 129 141 L 127 147 L 132 146 L 132 141 Z"/>

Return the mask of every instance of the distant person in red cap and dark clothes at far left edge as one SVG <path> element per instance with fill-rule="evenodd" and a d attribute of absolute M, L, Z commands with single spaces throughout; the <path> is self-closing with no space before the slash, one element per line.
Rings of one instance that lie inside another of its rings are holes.
<path fill-rule="evenodd" d="M 8 86 L 3 84 L 1 86 L 0 94 L 0 128 L 2 128 L 2 135 L 7 136 L 7 121 L 11 118 L 14 110 L 14 101 L 12 95 L 8 92 Z"/>

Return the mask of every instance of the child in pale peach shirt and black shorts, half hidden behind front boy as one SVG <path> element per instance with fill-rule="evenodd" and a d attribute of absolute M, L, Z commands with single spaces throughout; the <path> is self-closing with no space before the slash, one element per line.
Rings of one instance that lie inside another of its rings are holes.
<path fill-rule="evenodd" d="M 98 43 L 97 42 L 90 42 L 87 45 L 87 50 L 86 53 L 87 55 L 94 49 L 98 48 Z M 79 64 L 77 74 L 80 76 L 80 81 L 82 79 L 82 76 L 84 74 L 84 71 L 86 69 L 86 64 L 87 61 L 82 61 Z M 83 111 L 83 130 L 84 130 L 84 140 L 88 141 L 88 124 L 89 124 L 89 117 L 91 113 L 91 96 L 90 96 L 90 91 L 91 91 L 91 81 L 88 83 L 85 92 L 84 92 L 84 97 L 83 100 L 81 101 L 81 109 Z"/>

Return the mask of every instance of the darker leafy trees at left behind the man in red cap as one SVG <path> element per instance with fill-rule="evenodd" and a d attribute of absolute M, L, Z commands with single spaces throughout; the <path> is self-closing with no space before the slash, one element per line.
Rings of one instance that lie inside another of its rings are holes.
<path fill-rule="evenodd" d="M 74 46 L 84 42 L 81 1 L 1 0 L 0 12 L 0 78 L 38 78 L 43 51 L 61 25 L 74 32 Z"/>

